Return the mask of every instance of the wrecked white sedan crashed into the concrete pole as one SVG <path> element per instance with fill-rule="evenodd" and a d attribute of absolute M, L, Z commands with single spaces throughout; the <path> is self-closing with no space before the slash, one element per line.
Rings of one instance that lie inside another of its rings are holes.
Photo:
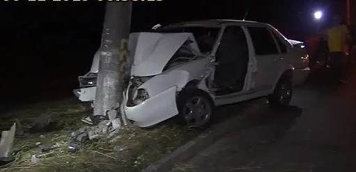
<path fill-rule="evenodd" d="M 131 33 L 133 59 L 124 112 L 139 127 L 178 115 L 204 127 L 214 106 L 268 96 L 272 107 L 288 105 L 292 85 L 309 74 L 302 42 L 287 40 L 269 24 L 204 20 L 170 24 L 155 33 Z M 94 101 L 98 54 L 75 94 Z"/>

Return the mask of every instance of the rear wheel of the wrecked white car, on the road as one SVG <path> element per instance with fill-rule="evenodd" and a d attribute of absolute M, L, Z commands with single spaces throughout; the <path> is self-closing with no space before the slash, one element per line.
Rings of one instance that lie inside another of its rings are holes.
<path fill-rule="evenodd" d="M 283 96 L 282 94 L 285 95 Z M 268 103 L 272 108 L 286 107 L 291 102 L 292 96 L 293 86 L 291 79 L 282 77 L 274 87 L 274 92 L 268 96 Z"/>

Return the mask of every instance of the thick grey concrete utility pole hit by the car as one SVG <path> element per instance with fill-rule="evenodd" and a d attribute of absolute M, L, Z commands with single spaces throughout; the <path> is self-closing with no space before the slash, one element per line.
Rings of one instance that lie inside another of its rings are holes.
<path fill-rule="evenodd" d="M 123 99 L 132 3 L 108 2 L 102 28 L 93 122 L 98 123 Z"/>

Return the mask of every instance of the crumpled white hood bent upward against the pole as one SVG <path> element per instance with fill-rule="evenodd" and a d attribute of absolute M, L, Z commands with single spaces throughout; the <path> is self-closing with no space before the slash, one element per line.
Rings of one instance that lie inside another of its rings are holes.
<path fill-rule="evenodd" d="M 199 48 L 192 33 L 131 33 L 128 49 L 133 58 L 132 76 L 161 74 L 171 57 L 186 40 L 198 54 Z"/>

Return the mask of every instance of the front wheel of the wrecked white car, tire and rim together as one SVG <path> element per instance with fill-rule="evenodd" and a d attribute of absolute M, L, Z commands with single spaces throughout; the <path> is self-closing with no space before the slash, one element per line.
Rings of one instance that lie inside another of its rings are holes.
<path fill-rule="evenodd" d="M 177 97 L 178 123 L 206 128 L 212 121 L 214 103 L 208 93 L 197 88 L 183 89 Z"/>

